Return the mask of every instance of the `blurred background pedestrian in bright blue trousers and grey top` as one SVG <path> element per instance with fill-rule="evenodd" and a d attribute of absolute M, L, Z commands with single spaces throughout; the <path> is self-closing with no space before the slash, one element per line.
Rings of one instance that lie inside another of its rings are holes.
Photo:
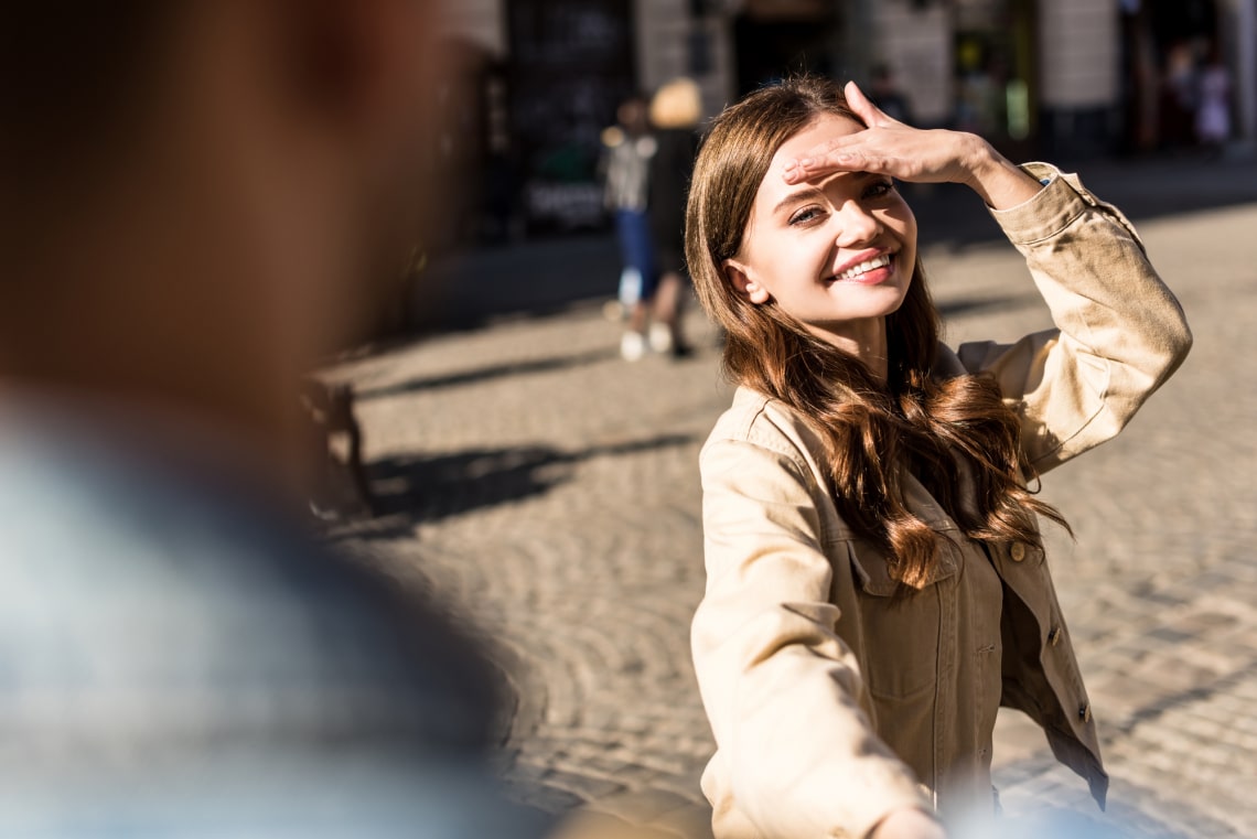
<path fill-rule="evenodd" d="M 620 339 L 620 354 L 635 362 L 646 354 L 646 325 L 659 268 L 650 235 L 646 206 L 650 201 L 650 161 L 659 151 L 650 133 L 647 104 L 630 97 L 616 111 L 617 124 L 602 132 L 606 170 L 606 205 L 615 214 L 623 271 L 620 301 L 628 309 L 628 327 Z"/>

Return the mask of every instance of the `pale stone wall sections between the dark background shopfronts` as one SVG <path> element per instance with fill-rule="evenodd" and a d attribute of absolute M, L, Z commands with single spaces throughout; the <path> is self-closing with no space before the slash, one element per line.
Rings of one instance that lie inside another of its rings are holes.
<path fill-rule="evenodd" d="M 874 64 L 892 68 L 910 90 L 916 118 L 941 124 L 959 95 L 954 80 L 954 39 L 963 19 L 997 18 L 1008 0 L 832 0 L 846 31 L 835 41 L 831 67 L 866 77 Z M 718 112 L 737 98 L 739 85 L 734 21 L 779 6 L 783 16 L 823 4 L 793 0 L 635 0 L 631 21 L 636 80 L 651 90 L 676 75 L 693 75 L 704 106 Z M 1052 0 L 1035 9 L 1032 102 L 1045 112 L 1043 128 L 1077 134 L 1121 104 L 1121 0 Z M 1237 136 L 1257 133 L 1257 0 L 1217 0 L 1219 36 L 1236 82 Z M 483 46 L 490 55 L 509 49 L 508 0 L 446 4 L 445 29 Z M 869 31 L 865 31 L 865 30 Z M 1091 128 L 1102 131 L 1104 126 Z M 1048 138 L 1051 139 L 1051 138 Z"/>

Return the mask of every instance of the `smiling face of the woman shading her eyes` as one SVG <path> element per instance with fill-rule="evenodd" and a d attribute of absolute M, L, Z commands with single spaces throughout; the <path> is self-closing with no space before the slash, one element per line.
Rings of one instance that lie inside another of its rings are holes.
<path fill-rule="evenodd" d="M 777 149 L 742 247 L 724 269 L 750 303 L 776 300 L 817 337 L 862 354 L 908 293 L 916 219 L 882 175 L 838 172 L 793 185 L 783 178 L 787 162 L 859 131 L 851 119 L 822 114 Z"/>

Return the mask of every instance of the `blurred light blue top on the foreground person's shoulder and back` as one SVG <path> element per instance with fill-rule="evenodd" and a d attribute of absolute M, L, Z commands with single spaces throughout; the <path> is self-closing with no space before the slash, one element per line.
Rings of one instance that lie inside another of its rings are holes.
<path fill-rule="evenodd" d="M 191 423 L 0 409 L 0 835 L 539 835 L 474 644 L 280 497 Z"/>

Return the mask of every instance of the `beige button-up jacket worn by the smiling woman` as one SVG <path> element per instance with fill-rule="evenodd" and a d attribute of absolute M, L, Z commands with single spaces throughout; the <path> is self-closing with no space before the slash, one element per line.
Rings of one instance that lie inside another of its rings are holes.
<path fill-rule="evenodd" d="M 994 217 L 1026 256 L 1057 329 L 940 347 L 940 377 L 993 374 L 1040 472 L 1116 435 L 1192 337 L 1130 222 L 1077 178 Z M 1091 706 L 1043 553 L 940 538 L 931 583 L 892 602 L 884 556 L 838 516 L 808 423 L 745 388 L 701 457 L 706 595 L 693 648 L 716 754 L 703 777 L 718 839 L 866 836 L 890 811 L 991 799 L 1001 703 L 1043 726 L 1104 804 Z"/>

